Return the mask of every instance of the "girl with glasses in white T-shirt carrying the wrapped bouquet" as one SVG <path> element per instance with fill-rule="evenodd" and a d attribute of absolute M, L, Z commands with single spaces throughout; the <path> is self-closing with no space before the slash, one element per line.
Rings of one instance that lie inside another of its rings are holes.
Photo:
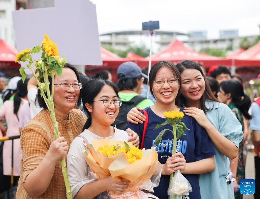
<path fill-rule="evenodd" d="M 128 187 L 128 181 L 116 181 L 111 176 L 96 180 L 90 176 L 90 167 L 82 155 L 83 140 L 91 144 L 92 140 L 103 138 L 124 141 L 129 138 L 127 132 L 111 126 L 122 103 L 118 98 L 117 87 L 111 81 L 93 79 L 83 87 L 82 102 L 88 120 L 83 127 L 83 132 L 71 143 L 67 156 L 72 196 L 75 199 L 92 199 L 106 190 L 123 193 Z"/>

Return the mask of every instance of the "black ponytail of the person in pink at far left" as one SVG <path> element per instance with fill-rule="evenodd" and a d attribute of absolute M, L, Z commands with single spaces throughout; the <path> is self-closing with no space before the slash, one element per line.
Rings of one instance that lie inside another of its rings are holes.
<path fill-rule="evenodd" d="M 27 96 L 27 83 L 29 79 L 25 79 L 24 83 L 23 80 L 19 80 L 17 82 L 17 90 L 14 96 L 14 114 L 17 115 L 18 110 L 20 108 L 22 97 Z M 17 116 L 18 117 L 18 116 Z"/>

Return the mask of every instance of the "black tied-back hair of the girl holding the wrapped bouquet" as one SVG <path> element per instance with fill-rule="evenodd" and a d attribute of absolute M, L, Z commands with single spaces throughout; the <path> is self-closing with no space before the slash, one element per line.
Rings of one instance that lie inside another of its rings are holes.
<path fill-rule="evenodd" d="M 81 98 L 82 98 L 82 103 L 83 103 L 83 109 L 87 113 L 88 120 L 86 121 L 82 131 L 84 131 L 85 129 L 88 129 L 92 122 L 91 114 L 88 111 L 85 104 L 89 103 L 93 107 L 94 98 L 99 94 L 99 92 L 101 91 L 101 89 L 103 88 L 104 85 L 111 86 L 114 89 L 114 91 L 116 92 L 117 97 L 119 98 L 118 88 L 116 87 L 116 85 L 114 83 L 112 83 L 109 80 L 95 78 L 95 79 L 90 80 L 88 83 L 86 83 L 86 85 L 83 86 Z"/>

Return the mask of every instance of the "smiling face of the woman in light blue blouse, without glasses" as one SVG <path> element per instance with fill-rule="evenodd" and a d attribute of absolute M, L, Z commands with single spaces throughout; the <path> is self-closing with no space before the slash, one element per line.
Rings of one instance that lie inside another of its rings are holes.
<path fill-rule="evenodd" d="M 187 106 L 193 105 L 199 108 L 204 91 L 205 81 L 200 71 L 185 69 L 181 73 L 181 94 L 185 97 Z"/>

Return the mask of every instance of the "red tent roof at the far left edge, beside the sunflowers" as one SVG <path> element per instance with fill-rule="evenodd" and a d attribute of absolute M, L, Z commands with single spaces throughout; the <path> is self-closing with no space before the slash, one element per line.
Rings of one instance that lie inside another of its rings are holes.
<path fill-rule="evenodd" d="M 16 48 L 13 48 L 3 39 L 0 39 L 0 61 L 15 61 L 16 54 Z"/>

